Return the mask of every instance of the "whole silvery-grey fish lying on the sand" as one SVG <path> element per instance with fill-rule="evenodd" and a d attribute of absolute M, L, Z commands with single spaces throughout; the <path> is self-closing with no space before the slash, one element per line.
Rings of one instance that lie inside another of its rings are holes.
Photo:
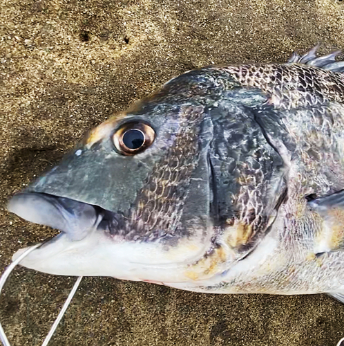
<path fill-rule="evenodd" d="M 8 202 L 60 231 L 21 266 L 344 302 L 344 62 L 317 49 L 187 71 L 88 132 Z"/>

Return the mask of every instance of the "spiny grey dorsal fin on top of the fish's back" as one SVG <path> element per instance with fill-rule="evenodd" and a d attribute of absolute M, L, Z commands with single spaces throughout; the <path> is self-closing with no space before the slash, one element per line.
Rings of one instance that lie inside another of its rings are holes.
<path fill-rule="evenodd" d="M 309 66 L 321 67 L 321 69 L 329 70 L 332 72 L 344 73 L 344 61 L 336 61 L 336 56 L 341 54 L 341 51 L 334 51 L 327 55 L 318 57 L 319 44 L 309 49 L 304 55 L 298 55 L 294 52 L 287 62 L 291 64 L 305 64 Z"/>

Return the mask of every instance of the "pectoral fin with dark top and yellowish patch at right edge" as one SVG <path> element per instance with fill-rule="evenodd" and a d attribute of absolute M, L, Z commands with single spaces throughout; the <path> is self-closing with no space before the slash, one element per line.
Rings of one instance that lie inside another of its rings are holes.
<path fill-rule="evenodd" d="M 344 191 L 308 202 L 314 217 L 321 217 L 321 227 L 316 230 L 314 252 L 324 253 L 344 250 Z"/>

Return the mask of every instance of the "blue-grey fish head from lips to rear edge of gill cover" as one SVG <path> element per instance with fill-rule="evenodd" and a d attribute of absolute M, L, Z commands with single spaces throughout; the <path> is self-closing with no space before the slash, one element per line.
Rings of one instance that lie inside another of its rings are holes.
<path fill-rule="evenodd" d="M 9 201 L 61 230 L 21 264 L 155 282 L 224 271 L 283 196 L 283 163 L 247 111 L 264 98 L 220 69 L 191 71 L 90 131 Z"/>

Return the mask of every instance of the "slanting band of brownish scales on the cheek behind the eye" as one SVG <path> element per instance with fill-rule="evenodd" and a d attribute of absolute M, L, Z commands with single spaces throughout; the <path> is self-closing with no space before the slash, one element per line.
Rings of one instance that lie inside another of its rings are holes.
<path fill-rule="evenodd" d="M 156 163 L 152 170 L 152 174 L 144 184 L 144 188 L 137 196 L 138 208 L 131 215 L 131 222 L 127 227 L 131 230 L 128 233 L 130 239 L 131 234 L 137 237 L 137 234 L 144 233 L 142 237 L 154 237 L 155 229 L 164 228 L 165 233 L 173 233 L 177 229 L 178 221 L 181 217 L 184 195 L 187 188 L 184 186 L 189 183 L 193 165 L 198 159 L 198 132 L 200 122 L 202 121 L 202 107 L 199 109 L 182 109 L 182 122 L 187 123 L 187 127 L 180 126 L 180 132 L 176 134 L 175 145 L 171 147 L 166 158 L 162 158 L 161 162 Z M 178 148 L 182 148 L 182 152 L 178 155 Z M 184 151 L 184 152 L 183 152 Z M 171 163 L 175 161 L 174 165 Z M 171 169 L 169 169 L 169 168 Z M 163 179 L 157 179 L 160 172 L 169 172 L 169 176 L 163 176 Z M 157 188 L 151 189 L 151 181 L 155 181 Z M 158 188 L 162 192 L 156 191 Z M 153 190 L 153 191 L 152 191 Z M 162 193 L 162 194 L 161 194 Z M 142 199 L 144 203 L 142 203 Z M 174 206 L 178 204 L 178 208 L 174 210 Z M 179 211 L 179 212 L 178 212 Z M 143 213 L 148 213 L 146 217 Z M 137 224 L 140 220 L 140 224 Z M 157 236 L 157 235 L 155 235 Z"/>

